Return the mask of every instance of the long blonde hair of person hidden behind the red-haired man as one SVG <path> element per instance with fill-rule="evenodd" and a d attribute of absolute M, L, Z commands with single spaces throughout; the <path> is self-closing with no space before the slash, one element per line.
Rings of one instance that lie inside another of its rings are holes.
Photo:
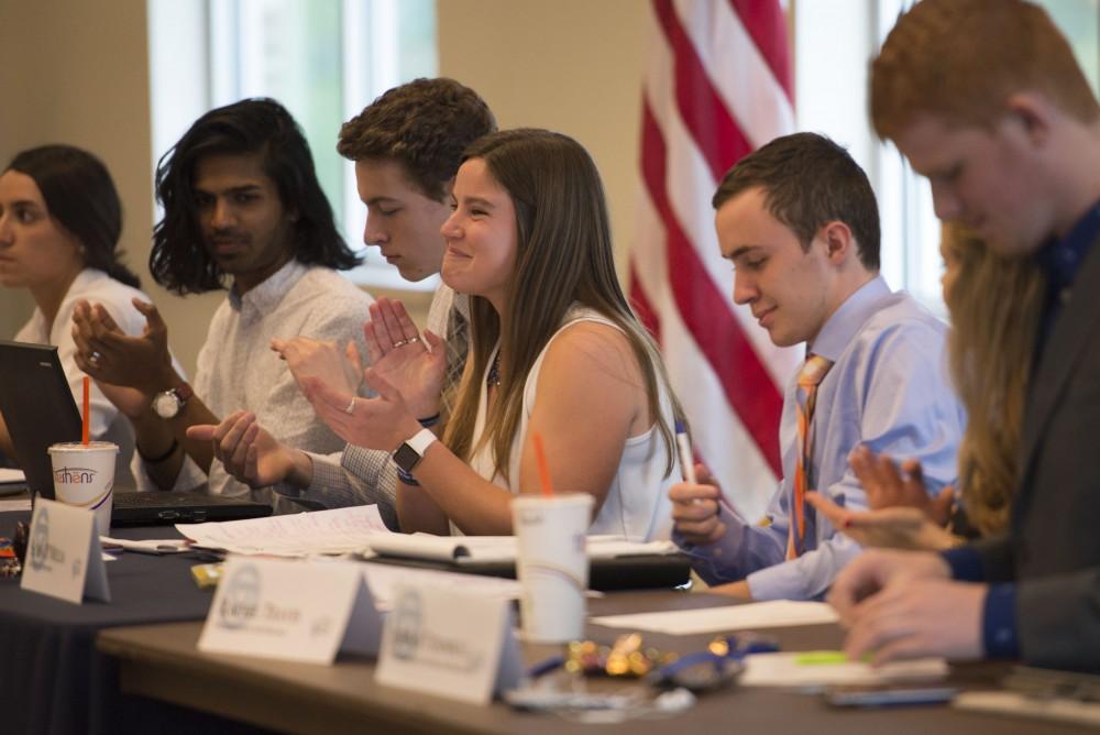
<path fill-rule="evenodd" d="M 1045 277 L 1030 260 L 998 255 L 958 224 L 943 229 L 957 275 L 944 294 L 952 315 L 950 370 L 969 414 L 959 443 L 959 489 L 983 535 L 1008 525 L 1019 482 L 1024 401 Z"/>

